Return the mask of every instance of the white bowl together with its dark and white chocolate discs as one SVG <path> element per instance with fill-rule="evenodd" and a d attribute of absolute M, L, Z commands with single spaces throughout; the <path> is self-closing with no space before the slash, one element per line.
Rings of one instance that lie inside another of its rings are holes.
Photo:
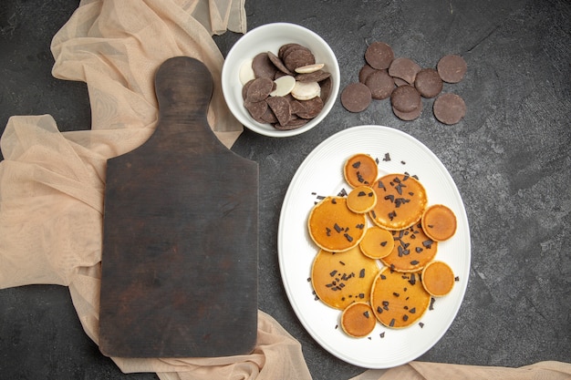
<path fill-rule="evenodd" d="M 322 37 L 303 26 L 267 24 L 246 33 L 229 51 L 223 96 L 244 127 L 265 136 L 289 137 L 316 127 L 327 116 L 337 98 L 339 77 L 337 57 Z M 264 91 L 254 91 L 260 87 Z"/>

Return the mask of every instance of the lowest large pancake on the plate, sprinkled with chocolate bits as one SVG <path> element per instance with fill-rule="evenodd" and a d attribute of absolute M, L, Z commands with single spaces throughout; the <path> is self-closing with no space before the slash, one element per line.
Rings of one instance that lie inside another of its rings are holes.
<path fill-rule="evenodd" d="M 384 268 L 373 282 L 370 304 L 381 324 L 402 328 L 426 312 L 431 294 L 422 287 L 419 272 L 403 274 Z"/>

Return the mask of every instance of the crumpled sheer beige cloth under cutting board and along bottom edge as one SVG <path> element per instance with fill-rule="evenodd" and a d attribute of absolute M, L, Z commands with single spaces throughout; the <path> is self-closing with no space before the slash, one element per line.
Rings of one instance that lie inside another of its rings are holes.
<path fill-rule="evenodd" d="M 232 146 L 242 126 L 223 102 L 223 56 L 212 39 L 226 29 L 245 32 L 244 0 L 80 3 L 54 36 L 53 75 L 88 84 L 92 125 L 60 133 L 48 115 L 9 119 L 0 140 L 5 157 L 0 162 L 0 289 L 32 283 L 68 286 L 86 334 L 98 342 L 106 160 L 151 135 L 157 119 L 153 74 L 171 56 L 193 56 L 209 67 L 214 93 L 208 119 L 223 143 Z M 259 312 L 258 322 L 252 354 L 113 360 L 123 372 L 156 372 L 162 380 L 310 379 L 300 344 L 271 316 Z M 508 378 L 508 372 L 515 376 L 510 378 L 564 378 L 549 377 L 548 371 L 571 374 L 569 365 L 559 363 L 475 370 L 413 362 L 386 373 L 366 371 L 356 379 Z"/>

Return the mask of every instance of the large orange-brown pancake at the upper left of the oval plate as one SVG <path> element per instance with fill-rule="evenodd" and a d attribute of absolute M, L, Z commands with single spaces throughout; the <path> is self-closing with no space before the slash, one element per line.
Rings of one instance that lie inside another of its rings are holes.
<path fill-rule="evenodd" d="M 347 207 L 343 197 L 327 197 L 311 209 L 307 226 L 317 246 L 330 252 L 344 252 L 358 245 L 365 236 L 366 214 Z"/>

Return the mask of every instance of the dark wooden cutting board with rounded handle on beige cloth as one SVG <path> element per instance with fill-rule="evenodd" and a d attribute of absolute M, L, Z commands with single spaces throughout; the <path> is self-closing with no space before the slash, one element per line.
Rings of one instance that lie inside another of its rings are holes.
<path fill-rule="evenodd" d="M 174 57 L 156 131 L 109 159 L 99 348 L 119 357 L 248 354 L 257 331 L 258 166 L 213 134 L 212 77 Z"/>

